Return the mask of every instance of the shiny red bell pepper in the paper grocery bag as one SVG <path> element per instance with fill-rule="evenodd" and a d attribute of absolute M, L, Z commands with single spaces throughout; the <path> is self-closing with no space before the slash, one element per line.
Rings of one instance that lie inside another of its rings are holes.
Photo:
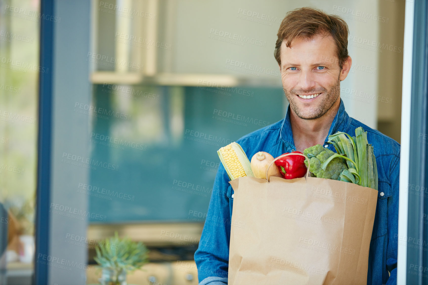
<path fill-rule="evenodd" d="M 288 154 L 290 152 L 286 152 Z M 293 151 L 291 153 L 300 153 L 300 151 Z M 301 155 L 288 155 L 275 160 L 276 166 L 278 166 L 279 172 L 282 174 L 282 178 L 293 179 L 305 176 L 307 168 L 304 163 L 305 157 Z"/>

